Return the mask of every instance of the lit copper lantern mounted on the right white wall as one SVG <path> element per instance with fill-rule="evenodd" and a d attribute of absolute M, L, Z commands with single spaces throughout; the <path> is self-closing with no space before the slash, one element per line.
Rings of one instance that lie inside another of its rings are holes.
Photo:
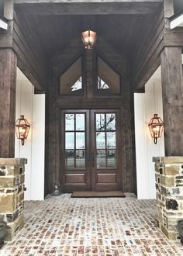
<path fill-rule="evenodd" d="M 164 123 L 157 114 L 154 114 L 154 117 L 150 119 L 150 123 L 148 124 L 150 129 L 150 135 L 154 138 L 154 144 L 157 144 L 157 138 L 160 138 L 162 132 L 164 130 Z"/>

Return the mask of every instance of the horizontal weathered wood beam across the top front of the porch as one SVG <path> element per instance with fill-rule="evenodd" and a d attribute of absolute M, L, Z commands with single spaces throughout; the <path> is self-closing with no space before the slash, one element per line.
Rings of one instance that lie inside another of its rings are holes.
<path fill-rule="evenodd" d="M 155 13 L 163 0 L 122 1 L 47 1 L 16 0 L 16 8 L 23 15 L 109 15 Z"/>

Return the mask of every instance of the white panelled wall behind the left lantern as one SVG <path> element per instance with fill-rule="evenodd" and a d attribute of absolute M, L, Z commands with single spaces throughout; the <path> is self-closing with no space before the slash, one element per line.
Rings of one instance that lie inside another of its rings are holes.
<path fill-rule="evenodd" d="M 34 87 L 17 68 L 16 119 L 24 115 L 30 124 L 24 146 L 16 138 L 16 157 L 28 159 L 25 171 L 25 199 L 44 199 L 45 95 L 34 95 Z"/>

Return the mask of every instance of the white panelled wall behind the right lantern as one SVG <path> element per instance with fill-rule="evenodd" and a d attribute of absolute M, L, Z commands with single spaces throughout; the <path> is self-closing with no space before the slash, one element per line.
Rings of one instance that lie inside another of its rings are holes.
<path fill-rule="evenodd" d="M 154 114 L 163 119 L 161 68 L 145 85 L 145 93 L 135 93 L 136 134 L 136 179 L 138 199 L 155 199 L 155 171 L 152 157 L 164 156 L 164 136 L 154 139 L 150 136 L 148 123 Z"/>

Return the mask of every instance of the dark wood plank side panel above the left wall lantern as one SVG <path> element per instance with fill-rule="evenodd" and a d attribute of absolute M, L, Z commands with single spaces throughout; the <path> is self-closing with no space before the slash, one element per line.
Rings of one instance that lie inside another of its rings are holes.
<path fill-rule="evenodd" d="M 37 89 L 43 90 L 47 85 L 48 60 L 32 31 L 25 18 L 15 12 L 12 47 L 17 54 L 18 67 Z"/>

